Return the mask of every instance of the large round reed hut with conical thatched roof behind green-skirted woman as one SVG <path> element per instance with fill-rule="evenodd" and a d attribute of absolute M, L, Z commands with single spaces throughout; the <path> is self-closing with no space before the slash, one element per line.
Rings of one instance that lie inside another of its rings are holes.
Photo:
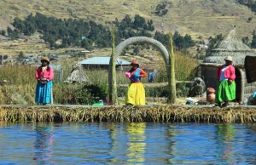
<path fill-rule="evenodd" d="M 231 56 L 236 68 L 236 101 L 243 103 L 256 91 L 256 83 L 247 83 L 245 73 L 246 56 L 256 56 L 255 52 L 236 36 L 236 29 L 230 31 L 227 37 L 216 48 L 212 49 L 206 59 L 201 63 L 201 77 L 207 88 L 217 88 L 217 71 L 220 65 L 224 65 L 224 58 Z"/>

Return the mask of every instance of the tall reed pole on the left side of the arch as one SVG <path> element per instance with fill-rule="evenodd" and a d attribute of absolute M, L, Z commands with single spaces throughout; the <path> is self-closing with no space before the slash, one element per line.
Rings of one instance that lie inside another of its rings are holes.
<path fill-rule="evenodd" d="M 116 58 L 114 54 L 114 32 L 115 29 L 111 30 L 111 38 L 112 38 L 112 54 L 110 57 L 109 63 L 109 74 L 108 74 L 108 92 L 109 92 L 109 100 L 111 105 L 118 105 L 117 100 L 117 85 L 116 85 Z"/>

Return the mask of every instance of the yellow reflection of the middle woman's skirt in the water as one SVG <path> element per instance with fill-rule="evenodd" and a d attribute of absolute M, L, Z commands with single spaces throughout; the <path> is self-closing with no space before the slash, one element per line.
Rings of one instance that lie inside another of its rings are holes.
<path fill-rule="evenodd" d="M 127 124 L 128 134 L 128 162 L 139 164 L 139 162 L 145 162 L 144 153 L 146 147 L 146 136 L 144 135 L 146 123 L 131 122 Z"/>

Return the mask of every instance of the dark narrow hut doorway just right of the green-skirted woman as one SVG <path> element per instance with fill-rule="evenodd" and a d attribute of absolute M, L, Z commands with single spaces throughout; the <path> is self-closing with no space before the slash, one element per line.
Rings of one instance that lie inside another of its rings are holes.
<path fill-rule="evenodd" d="M 241 103 L 242 100 L 243 100 L 243 83 L 242 83 L 242 79 L 243 79 L 243 74 L 242 74 L 242 71 L 241 69 L 239 68 L 235 68 L 235 71 L 236 71 L 236 79 L 235 79 L 235 82 L 236 82 L 236 101 L 238 103 Z"/>

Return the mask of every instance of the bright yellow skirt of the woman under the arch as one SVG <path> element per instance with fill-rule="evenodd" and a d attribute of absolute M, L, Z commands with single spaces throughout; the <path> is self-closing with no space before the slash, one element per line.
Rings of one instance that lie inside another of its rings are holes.
<path fill-rule="evenodd" d="M 145 89 L 143 83 L 130 83 L 125 97 L 125 104 L 145 105 Z"/>

